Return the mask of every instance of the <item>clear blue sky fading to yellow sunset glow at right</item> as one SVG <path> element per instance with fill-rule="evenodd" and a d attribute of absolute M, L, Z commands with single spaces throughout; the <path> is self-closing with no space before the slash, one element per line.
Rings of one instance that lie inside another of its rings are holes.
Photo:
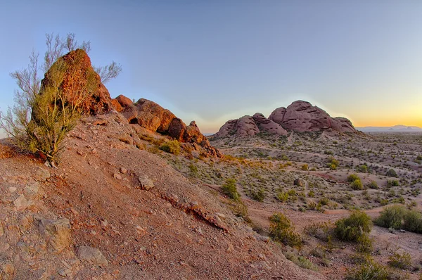
<path fill-rule="evenodd" d="M 9 73 L 45 34 L 116 61 L 112 97 L 147 98 L 203 133 L 305 100 L 356 127 L 422 127 L 420 0 L 9 1 L 0 4 L 0 110 Z"/>

